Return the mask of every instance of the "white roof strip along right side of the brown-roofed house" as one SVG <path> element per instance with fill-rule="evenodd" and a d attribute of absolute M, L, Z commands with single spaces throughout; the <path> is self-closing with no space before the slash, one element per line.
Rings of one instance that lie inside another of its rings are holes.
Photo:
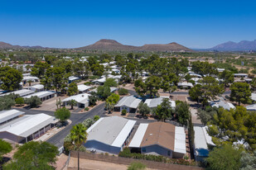
<path fill-rule="evenodd" d="M 186 134 L 184 127 L 175 126 L 174 152 L 186 153 Z"/>

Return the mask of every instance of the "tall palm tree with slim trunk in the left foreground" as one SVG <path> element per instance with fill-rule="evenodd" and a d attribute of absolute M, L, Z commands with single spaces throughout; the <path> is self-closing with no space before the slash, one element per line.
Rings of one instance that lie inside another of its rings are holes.
<path fill-rule="evenodd" d="M 79 163 L 79 158 L 80 158 L 80 146 L 85 143 L 87 139 L 87 132 L 85 125 L 83 124 L 78 124 L 74 125 L 73 128 L 70 130 L 70 138 L 72 139 L 73 144 L 75 144 L 76 149 L 78 150 L 77 152 L 77 165 L 78 165 L 78 170 L 80 169 L 80 163 Z"/>

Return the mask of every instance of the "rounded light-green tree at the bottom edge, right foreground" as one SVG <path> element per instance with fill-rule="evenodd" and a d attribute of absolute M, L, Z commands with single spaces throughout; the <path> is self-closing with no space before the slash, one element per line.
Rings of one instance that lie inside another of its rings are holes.
<path fill-rule="evenodd" d="M 234 149 L 231 145 L 216 147 L 206 158 L 212 170 L 239 170 L 241 150 Z"/>

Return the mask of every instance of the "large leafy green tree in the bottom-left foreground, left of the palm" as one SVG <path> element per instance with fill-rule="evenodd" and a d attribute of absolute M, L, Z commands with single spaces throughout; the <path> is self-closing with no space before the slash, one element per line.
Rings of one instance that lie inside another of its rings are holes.
<path fill-rule="evenodd" d="M 55 169 L 58 148 L 47 142 L 31 141 L 23 144 L 13 155 L 13 161 L 3 169 Z"/>

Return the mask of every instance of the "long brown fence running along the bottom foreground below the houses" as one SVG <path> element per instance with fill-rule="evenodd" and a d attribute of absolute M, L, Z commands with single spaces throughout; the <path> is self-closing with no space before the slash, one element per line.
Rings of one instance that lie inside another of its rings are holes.
<path fill-rule="evenodd" d="M 71 151 L 70 156 L 77 158 L 77 151 Z M 192 167 L 192 166 L 178 165 L 178 164 L 171 164 L 171 163 L 159 163 L 159 162 L 147 161 L 142 159 L 123 158 L 123 157 L 109 156 L 104 154 L 86 153 L 86 152 L 80 152 L 80 158 L 108 162 L 108 163 L 124 164 L 124 165 L 129 165 L 130 163 L 133 163 L 133 162 L 140 162 L 145 164 L 147 168 L 155 168 L 155 169 L 162 169 L 162 170 L 169 170 L 169 169 L 171 170 L 204 170 L 204 168 L 200 168 L 200 167 Z M 72 170 L 75 168 L 68 168 L 68 169 Z"/>

